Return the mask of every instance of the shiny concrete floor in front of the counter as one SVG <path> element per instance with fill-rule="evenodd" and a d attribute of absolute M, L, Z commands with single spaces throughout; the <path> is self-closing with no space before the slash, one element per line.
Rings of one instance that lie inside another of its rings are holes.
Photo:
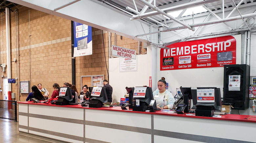
<path fill-rule="evenodd" d="M 19 135 L 19 123 L 0 119 L 0 143 L 50 143 L 49 141 Z"/>

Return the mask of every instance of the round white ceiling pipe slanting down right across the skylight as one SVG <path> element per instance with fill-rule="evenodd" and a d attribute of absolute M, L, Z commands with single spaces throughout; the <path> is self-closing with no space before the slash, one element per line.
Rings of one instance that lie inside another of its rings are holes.
<path fill-rule="evenodd" d="M 169 14 L 167 14 L 166 12 L 162 11 L 162 10 L 159 9 L 158 7 L 156 7 L 156 6 L 154 6 L 154 5 L 150 4 L 150 3 L 148 3 L 147 1 L 145 1 L 145 0 L 139 0 L 139 1 L 140 1 L 141 3 L 147 5 L 148 7 L 150 7 L 150 8 L 152 8 L 152 9 L 158 11 L 159 13 L 161 13 L 161 14 L 163 14 L 163 15 L 169 17 L 169 18 L 172 19 L 173 21 L 175 21 L 175 22 L 177 22 L 177 23 L 179 23 L 179 24 L 181 24 L 181 25 L 187 27 L 188 29 L 190 29 L 190 30 L 192 30 L 192 31 L 195 31 L 195 28 L 193 28 L 193 27 L 191 27 L 191 26 L 188 26 L 187 24 L 185 24 L 185 23 L 179 21 L 178 19 L 172 17 L 171 15 L 169 15 Z"/>

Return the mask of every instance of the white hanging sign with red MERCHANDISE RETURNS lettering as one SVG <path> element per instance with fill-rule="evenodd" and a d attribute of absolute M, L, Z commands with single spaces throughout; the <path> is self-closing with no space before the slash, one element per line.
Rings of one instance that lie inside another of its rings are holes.
<path fill-rule="evenodd" d="M 136 51 L 112 45 L 112 55 L 136 59 Z"/>

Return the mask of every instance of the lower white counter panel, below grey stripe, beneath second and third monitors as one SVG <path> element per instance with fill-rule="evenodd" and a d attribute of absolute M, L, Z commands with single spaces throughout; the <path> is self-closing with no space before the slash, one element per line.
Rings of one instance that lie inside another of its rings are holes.
<path fill-rule="evenodd" d="M 85 137 L 111 143 L 150 143 L 151 134 L 85 125 Z"/>

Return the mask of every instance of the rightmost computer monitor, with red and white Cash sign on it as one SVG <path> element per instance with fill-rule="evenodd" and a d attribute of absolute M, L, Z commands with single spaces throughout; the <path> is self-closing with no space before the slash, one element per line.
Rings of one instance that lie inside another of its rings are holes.
<path fill-rule="evenodd" d="M 209 90 L 201 90 L 209 89 Z M 213 89 L 213 90 L 210 90 Z M 194 106 L 192 109 L 196 109 L 195 106 L 211 106 L 214 110 L 221 111 L 221 89 L 216 87 L 197 87 L 191 89 L 192 99 Z M 212 95 L 214 93 L 214 96 Z M 201 94 L 201 95 L 200 95 Z M 204 95 L 203 95 L 204 94 Z M 209 95 L 211 94 L 211 95 Z M 214 97 L 214 99 L 213 99 Z M 205 99 L 203 99 L 205 98 Z"/>

